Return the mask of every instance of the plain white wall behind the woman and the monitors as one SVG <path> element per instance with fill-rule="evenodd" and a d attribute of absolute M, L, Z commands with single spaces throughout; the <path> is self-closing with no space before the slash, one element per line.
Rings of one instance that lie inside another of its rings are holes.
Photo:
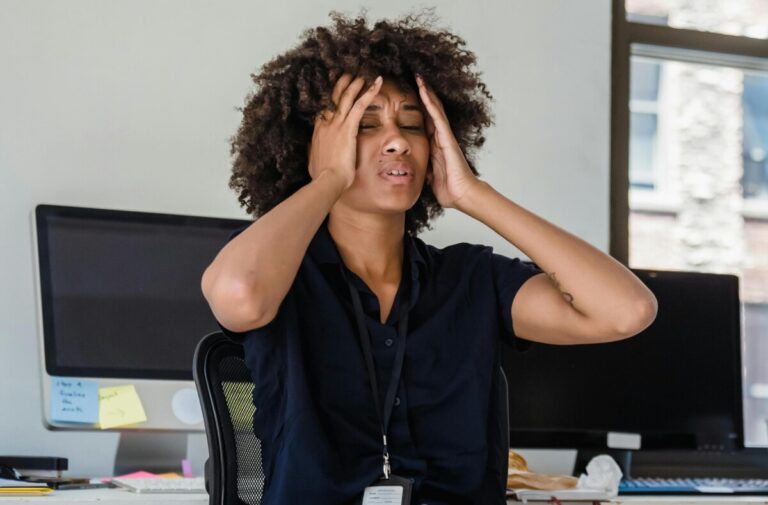
<path fill-rule="evenodd" d="M 370 18 L 411 4 L 370 2 Z M 117 436 L 41 421 L 30 212 L 38 203 L 244 217 L 227 139 L 249 74 L 327 24 L 329 1 L 3 0 L 0 16 L 0 454 L 111 470 Z M 524 207 L 608 245 L 610 2 L 434 2 L 496 98 L 482 175 Z M 448 211 L 424 239 L 516 251 Z M 527 453 L 536 461 L 544 454 Z M 546 456 L 546 454 L 544 454 Z M 560 458 L 557 458 L 558 460 Z M 557 469 L 555 469 L 557 470 Z"/>

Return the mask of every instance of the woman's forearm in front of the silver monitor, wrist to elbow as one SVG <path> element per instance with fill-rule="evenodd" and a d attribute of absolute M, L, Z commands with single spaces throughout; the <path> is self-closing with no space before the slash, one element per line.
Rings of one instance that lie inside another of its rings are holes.
<path fill-rule="evenodd" d="M 274 317 L 344 187 L 341 177 L 325 171 L 224 246 L 202 279 L 219 322 L 244 331 Z"/>

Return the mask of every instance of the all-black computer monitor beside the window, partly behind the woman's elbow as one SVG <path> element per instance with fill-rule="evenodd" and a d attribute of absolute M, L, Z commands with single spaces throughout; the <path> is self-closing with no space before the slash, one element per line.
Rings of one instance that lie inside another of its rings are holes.
<path fill-rule="evenodd" d="M 743 443 L 738 279 L 636 270 L 656 320 L 608 344 L 503 346 L 513 447 L 606 447 L 606 432 L 642 448 Z"/>

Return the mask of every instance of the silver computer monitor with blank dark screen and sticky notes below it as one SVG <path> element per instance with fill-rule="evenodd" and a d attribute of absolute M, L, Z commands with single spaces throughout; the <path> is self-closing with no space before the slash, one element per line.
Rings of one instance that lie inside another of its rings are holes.
<path fill-rule="evenodd" d="M 138 393 L 147 420 L 116 428 L 121 444 L 144 440 L 151 450 L 169 436 L 138 433 L 202 432 L 192 357 L 218 327 L 200 279 L 232 231 L 249 222 L 53 205 L 37 206 L 33 221 L 45 425 L 100 429 L 52 415 L 54 381 L 90 379 Z"/>

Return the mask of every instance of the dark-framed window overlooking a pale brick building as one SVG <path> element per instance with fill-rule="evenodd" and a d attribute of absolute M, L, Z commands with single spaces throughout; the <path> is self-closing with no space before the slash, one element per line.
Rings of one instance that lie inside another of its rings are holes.
<path fill-rule="evenodd" d="M 739 276 L 745 444 L 768 446 L 768 2 L 624 2 L 611 252 Z"/>

